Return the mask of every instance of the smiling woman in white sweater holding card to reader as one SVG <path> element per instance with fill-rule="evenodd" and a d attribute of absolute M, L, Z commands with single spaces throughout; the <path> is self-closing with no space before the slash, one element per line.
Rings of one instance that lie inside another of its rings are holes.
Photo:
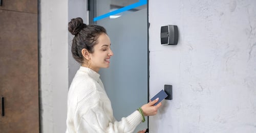
<path fill-rule="evenodd" d="M 74 35 L 73 58 L 81 64 L 68 94 L 67 132 L 133 132 L 144 116 L 157 114 L 158 99 L 144 104 L 131 115 L 116 121 L 111 102 L 99 78 L 100 68 L 110 66 L 111 41 L 99 25 L 87 25 L 81 18 L 71 19 L 69 32 Z M 145 132 L 141 130 L 139 132 Z"/>

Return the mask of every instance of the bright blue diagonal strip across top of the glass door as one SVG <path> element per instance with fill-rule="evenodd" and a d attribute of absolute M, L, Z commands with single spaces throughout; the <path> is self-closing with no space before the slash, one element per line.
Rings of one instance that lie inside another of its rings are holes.
<path fill-rule="evenodd" d="M 117 9 L 117 10 L 115 10 L 115 11 L 112 11 L 112 12 L 109 12 L 109 13 L 106 13 L 106 14 L 103 14 L 103 15 L 98 16 L 98 17 L 95 17 L 95 18 L 93 18 L 93 21 L 98 21 L 98 20 L 100 20 L 100 19 L 109 17 L 110 15 L 115 15 L 115 14 L 118 14 L 118 13 L 121 13 L 121 12 L 124 12 L 124 11 L 127 11 L 127 10 L 130 10 L 130 9 L 133 9 L 133 8 L 136 8 L 136 7 L 145 5 L 145 4 L 147 4 L 147 0 L 139 0 L 139 2 L 137 2 L 137 3 L 135 3 L 135 4 L 132 4 L 132 5 L 129 5 L 129 6 L 126 6 L 126 7 L 120 8 L 120 9 Z"/>

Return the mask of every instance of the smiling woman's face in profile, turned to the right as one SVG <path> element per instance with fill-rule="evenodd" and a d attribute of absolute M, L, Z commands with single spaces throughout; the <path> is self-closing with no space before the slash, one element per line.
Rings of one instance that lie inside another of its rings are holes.
<path fill-rule="evenodd" d="M 98 72 L 100 68 L 108 68 L 110 66 L 110 57 L 113 52 L 110 48 L 110 38 L 106 34 L 101 34 L 98 43 L 94 46 L 94 52 L 90 53 L 90 68 Z"/>

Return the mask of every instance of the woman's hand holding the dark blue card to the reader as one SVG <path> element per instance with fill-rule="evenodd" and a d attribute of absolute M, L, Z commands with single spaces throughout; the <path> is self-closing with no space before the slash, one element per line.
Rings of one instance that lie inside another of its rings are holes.
<path fill-rule="evenodd" d="M 141 107 L 144 116 L 154 116 L 157 114 L 158 108 L 160 108 L 160 106 L 162 105 L 162 103 L 159 102 L 157 105 L 154 106 L 154 104 L 157 103 L 158 100 L 159 98 L 155 99 L 154 101 L 150 101 Z"/>

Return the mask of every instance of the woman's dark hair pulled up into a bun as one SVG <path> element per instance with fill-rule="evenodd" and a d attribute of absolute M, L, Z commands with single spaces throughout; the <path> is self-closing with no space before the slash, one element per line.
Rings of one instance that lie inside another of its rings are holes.
<path fill-rule="evenodd" d="M 72 41 L 72 56 L 78 63 L 83 63 L 82 49 L 86 48 L 93 53 L 94 45 L 97 44 L 98 37 L 106 34 L 106 30 L 100 25 L 87 25 L 83 23 L 82 18 L 77 17 L 69 22 L 69 32 L 75 35 Z"/>

